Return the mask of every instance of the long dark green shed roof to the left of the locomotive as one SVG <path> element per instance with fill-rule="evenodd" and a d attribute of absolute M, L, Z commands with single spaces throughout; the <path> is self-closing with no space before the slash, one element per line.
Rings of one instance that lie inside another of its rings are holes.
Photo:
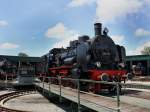
<path fill-rule="evenodd" d="M 41 62 L 42 59 L 40 57 L 20 57 L 20 56 L 8 56 L 8 55 L 0 55 L 0 58 L 5 58 L 14 62 Z"/>

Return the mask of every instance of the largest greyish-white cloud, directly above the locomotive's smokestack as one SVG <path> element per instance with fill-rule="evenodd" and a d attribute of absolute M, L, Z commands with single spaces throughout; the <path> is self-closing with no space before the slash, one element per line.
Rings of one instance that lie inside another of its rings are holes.
<path fill-rule="evenodd" d="M 142 0 L 97 0 L 96 20 L 116 21 L 118 18 L 138 12 L 142 5 Z"/>

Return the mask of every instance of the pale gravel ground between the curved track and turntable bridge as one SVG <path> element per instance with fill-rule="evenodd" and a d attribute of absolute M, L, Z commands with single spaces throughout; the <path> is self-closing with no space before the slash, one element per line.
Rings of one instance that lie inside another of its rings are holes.
<path fill-rule="evenodd" d="M 42 95 L 30 94 L 7 101 L 5 107 L 32 112 L 66 112 L 57 105 L 49 102 Z"/>

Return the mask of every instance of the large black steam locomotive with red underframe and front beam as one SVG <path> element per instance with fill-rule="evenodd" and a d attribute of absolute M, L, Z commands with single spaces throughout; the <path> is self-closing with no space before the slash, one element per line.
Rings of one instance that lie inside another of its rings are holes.
<path fill-rule="evenodd" d="M 102 31 L 102 24 L 95 23 L 95 37 L 84 35 L 78 40 L 70 41 L 67 48 L 53 48 L 49 51 L 49 75 L 90 79 L 96 81 L 121 82 L 127 71 L 125 65 L 125 48 L 116 45 L 108 36 L 108 29 Z M 100 92 L 106 86 L 102 84 L 81 84 Z M 107 87 L 111 90 L 113 87 Z"/>

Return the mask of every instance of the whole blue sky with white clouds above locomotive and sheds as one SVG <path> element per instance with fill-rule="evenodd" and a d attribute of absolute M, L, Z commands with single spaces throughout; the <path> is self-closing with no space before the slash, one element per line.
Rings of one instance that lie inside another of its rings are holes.
<path fill-rule="evenodd" d="M 0 0 L 0 54 L 42 56 L 102 22 L 127 55 L 150 46 L 150 0 Z"/>

